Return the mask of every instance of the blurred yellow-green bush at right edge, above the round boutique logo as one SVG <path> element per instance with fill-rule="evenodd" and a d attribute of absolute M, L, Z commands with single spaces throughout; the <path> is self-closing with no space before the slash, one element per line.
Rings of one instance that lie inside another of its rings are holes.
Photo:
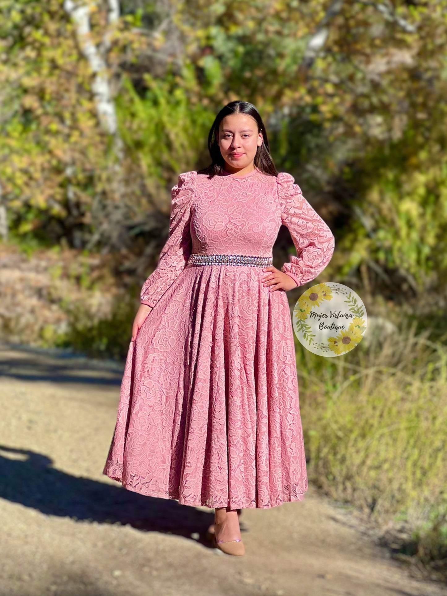
<path fill-rule="evenodd" d="M 440 106 L 441 121 L 443 113 Z M 445 137 L 418 147 L 416 132 L 406 131 L 393 151 L 378 148 L 364 161 L 352 182 L 356 217 L 338 249 L 346 257 L 341 275 L 372 259 L 375 271 L 398 272 L 422 296 L 447 282 L 447 157 Z"/>

